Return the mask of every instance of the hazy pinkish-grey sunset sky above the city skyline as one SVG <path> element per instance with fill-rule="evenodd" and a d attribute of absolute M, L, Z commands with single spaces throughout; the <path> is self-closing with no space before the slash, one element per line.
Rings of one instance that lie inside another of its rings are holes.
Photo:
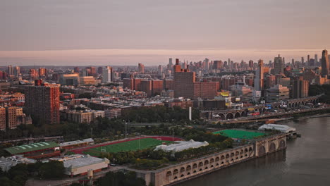
<path fill-rule="evenodd" d="M 0 0 L 0 66 L 300 60 L 330 46 L 329 0 Z"/>

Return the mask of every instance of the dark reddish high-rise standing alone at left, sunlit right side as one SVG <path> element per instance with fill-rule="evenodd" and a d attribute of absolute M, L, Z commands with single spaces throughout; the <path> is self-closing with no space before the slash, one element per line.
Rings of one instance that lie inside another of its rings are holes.
<path fill-rule="evenodd" d="M 35 86 L 25 88 L 25 112 L 42 123 L 59 123 L 59 87 L 35 80 Z"/>

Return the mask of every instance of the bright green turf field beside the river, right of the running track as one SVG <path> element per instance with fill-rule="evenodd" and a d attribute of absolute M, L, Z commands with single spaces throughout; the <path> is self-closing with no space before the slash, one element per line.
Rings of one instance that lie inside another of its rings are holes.
<path fill-rule="evenodd" d="M 245 130 L 220 130 L 213 132 L 213 134 L 219 134 L 219 135 L 224 135 L 226 137 L 231 137 L 231 138 L 236 138 L 236 139 L 253 139 L 254 137 L 259 137 L 262 135 L 266 135 L 265 133 L 262 132 L 250 132 L 250 131 L 245 131 Z"/>

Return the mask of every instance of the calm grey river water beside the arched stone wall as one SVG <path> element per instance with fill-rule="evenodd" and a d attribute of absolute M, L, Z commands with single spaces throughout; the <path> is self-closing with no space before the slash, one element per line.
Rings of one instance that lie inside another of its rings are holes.
<path fill-rule="evenodd" d="M 285 151 L 252 159 L 183 182 L 181 186 L 302 186 L 330 185 L 330 117 L 288 121 L 301 138 Z"/>

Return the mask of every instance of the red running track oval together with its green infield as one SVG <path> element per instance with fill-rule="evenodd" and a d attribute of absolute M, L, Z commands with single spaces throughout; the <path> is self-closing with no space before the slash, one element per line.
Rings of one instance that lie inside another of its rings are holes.
<path fill-rule="evenodd" d="M 118 140 L 104 144 L 97 144 L 91 147 L 72 150 L 75 154 L 90 154 L 99 156 L 102 152 L 116 153 L 119 151 L 136 151 L 139 149 L 153 148 L 160 144 L 171 144 L 173 141 L 182 141 L 178 137 L 150 136 L 136 137 L 129 140 Z"/>

